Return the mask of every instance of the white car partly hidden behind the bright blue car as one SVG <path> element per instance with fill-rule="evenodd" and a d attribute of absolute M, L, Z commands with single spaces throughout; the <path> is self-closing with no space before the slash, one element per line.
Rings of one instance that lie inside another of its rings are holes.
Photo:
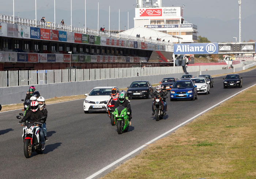
<path fill-rule="evenodd" d="M 205 77 L 195 77 L 190 80 L 196 85 L 198 94 L 210 94 L 210 81 L 207 81 Z"/>

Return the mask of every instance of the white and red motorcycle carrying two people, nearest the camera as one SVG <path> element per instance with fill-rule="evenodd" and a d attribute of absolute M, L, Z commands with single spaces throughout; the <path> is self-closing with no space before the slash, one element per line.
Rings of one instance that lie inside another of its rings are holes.
<path fill-rule="evenodd" d="M 19 115 L 23 116 L 22 113 L 19 113 Z M 20 116 L 16 116 L 18 119 L 21 119 Z M 42 120 L 45 117 L 39 119 Z M 40 138 L 40 126 L 43 125 L 43 123 L 40 122 L 34 122 L 34 123 L 28 123 L 28 122 L 22 122 L 20 123 L 23 127 L 23 134 L 22 134 L 22 140 L 24 142 L 24 155 L 26 158 L 31 157 L 32 152 L 37 152 L 37 154 L 42 154 L 44 150 L 42 150 L 42 144 L 41 144 L 41 138 Z"/>

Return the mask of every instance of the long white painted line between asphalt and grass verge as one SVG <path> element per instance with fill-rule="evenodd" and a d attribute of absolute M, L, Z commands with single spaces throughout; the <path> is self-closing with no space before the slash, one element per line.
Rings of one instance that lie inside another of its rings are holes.
<path fill-rule="evenodd" d="M 254 84 L 254 85 L 252 85 L 252 86 L 250 86 L 250 87 L 248 87 L 248 88 L 246 88 L 246 89 L 249 89 L 249 88 L 251 88 L 251 87 L 253 87 L 253 86 L 255 86 L 255 85 L 256 85 L 256 84 Z M 129 156 L 131 156 L 131 155 L 133 155 L 135 152 L 137 152 L 137 151 L 139 151 L 140 149 L 144 148 L 144 147 L 145 147 L 145 146 L 147 146 L 148 144 L 151 144 L 152 142 L 154 142 L 154 141 L 158 140 L 159 138 L 161 138 L 161 137 L 165 136 L 166 134 L 168 134 L 168 133 L 172 132 L 173 130 L 177 129 L 178 127 L 180 127 L 180 126 L 182 126 L 182 125 L 184 125 L 184 124 L 188 123 L 189 121 L 191 121 L 191 120 L 195 119 L 196 117 L 198 117 L 198 116 L 202 115 L 203 113 L 206 113 L 207 111 L 209 111 L 209 110 L 211 110 L 212 108 L 214 108 L 214 107 L 218 106 L 219 104 L 221 104 L 221 103 L 225 102 L 226 100 L 229 100 L 230 98 L 233 98 L 234 96 L 236 96 L 236 95 L 240 94 L 241 92 L 245 91 L 246 89 L 244 89 L 244 90 L 242 90 L 242 91 L 240 91 L 240 92 L 238 92 L 238 93 L 236 93 L 236 94 L 234 94 L 234 95 L 230 96 L 230 97 L 229 97 L 229 98 L 227 98 L 227 99 L 224 99 L 223 101 L 221 101 L 221 102 L 219 102 L 219 103 L 215 104 L 214 106 L 212 106 L 212 107 L 210 107 L 210 108 L 208 108 L 208 109 L 204 110 L 203 112 L 201 112 L 201 113 L 199 113 L 199 114 L 195 115 L 194 117 L 192 117 L 192 118 L 188 119 L 187 121 L 182 122 L 180 125 L 178 125 L 178 126 L 174 127 L 173 129 L 171 129 L 171 130 L 169 130 L 169 131 L 167 131 L 167 132 L 163 133 L 162 135 L 160 135 L 160 136 L 158 136 L 158 137 L 154 138 L 153 140 L 151 140 L 151 141 L 147 142 L 146 144 L 144 144 L 144 145 L 140 146 L 139 148 L 137 148 L 137 149 L 135 149 L 134 151 L 132 151 L 132 152 L 128 153 L 127 155 L 123 156 L 122 158 L 120 158 L 120 159 L 118 159 L 118 160 L 114 161 L 113 163 L 109 164 L 108 166 L 106 166 L 106 167 L 102 168 L 101 170 L 97 171 L 96 173 L 94 173 L 93 175 L 91 175 L 91 176 L 87 177 L 86 179 L 92 179 L 92 178 L 94 178 L 95 176 L 97 176 L 97 175 L 101 174 L 103 171 L 105 171 L 105 170 L 109 169 L 110 167 L 114 166 L 114 165 L 115 165 L 115 164 L 117 164 L 118 162 L 120 162 L 120 161 L 122 161 L 122 160 L 126 159 L 127 157 L 129 157 Z"/>

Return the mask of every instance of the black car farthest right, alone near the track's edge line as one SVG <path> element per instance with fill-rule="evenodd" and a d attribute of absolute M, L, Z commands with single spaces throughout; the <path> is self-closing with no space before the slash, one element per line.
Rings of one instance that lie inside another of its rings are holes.
<path fill-rule="evenodd" d="M 223 88 L 227 87 L 239 87 L 242 88 L 242 77 L 238 74 L 227 75 L 223 78 Z"/>

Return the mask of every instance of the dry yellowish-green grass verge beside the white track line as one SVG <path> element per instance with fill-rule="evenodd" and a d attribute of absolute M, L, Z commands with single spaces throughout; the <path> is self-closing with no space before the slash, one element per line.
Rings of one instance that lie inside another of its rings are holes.
<path fill-rule="evenodd" d="M 149 145 L 103 178 L 256 178 L 255 104 L 256 86 Z"/>

